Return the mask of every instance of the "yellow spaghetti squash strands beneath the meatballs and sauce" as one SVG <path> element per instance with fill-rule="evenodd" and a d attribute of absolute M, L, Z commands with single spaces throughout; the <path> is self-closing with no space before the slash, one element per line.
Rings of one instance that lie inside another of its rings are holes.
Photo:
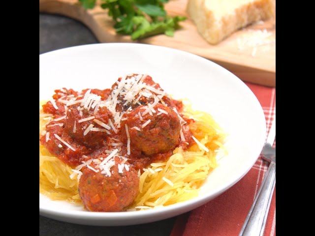
<path fill-rule="evenodd" d="M 40 110 L 40 134 L 51 119 L 44 119 L 41 114 Z M 215 150 L 223 149 L 225 134 L 207 113 L 193 111 L 186 106 L 185 115 L 195 119 L 189 128 L 194 137 L 209 148 L 209 152 L 200 150 L 197 145 L 185 151 L 180 147 L 166 162 L 152 163 L 151 171 L 147 170 L 140 176 L 138 196 L 129 208 L 167 206 L 192 199 L 198 195 L 198 189 L 209 173 L 216 168 Z M 53 200 L 81 202 L 77 175 L 42 145 L 39 145 L 39 192 Z"/>

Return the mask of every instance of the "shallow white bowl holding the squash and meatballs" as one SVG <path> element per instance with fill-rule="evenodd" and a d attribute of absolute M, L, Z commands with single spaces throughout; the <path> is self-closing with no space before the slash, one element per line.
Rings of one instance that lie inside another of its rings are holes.
<path fill-rule="evenodd" d="M 39 194 L 39 213 L 70 223 L 118 226 L 173 217 L 214 199 L 240 180 L 264 145 L 266 122 L 252 91 L 218 64 L 166 47 L 106 43 L 71 47 L 39 56 L 39 100 L 54 89 L 109 88 L 127 73 L 145 73 L 175 99 L 188 98 L 194 109 L 211 114 L 229 134 L 228 155 L 209 175 L 198 197 L 158 209 L 131 212 L 89 212 L 82 206 L 51 201 Z"/>

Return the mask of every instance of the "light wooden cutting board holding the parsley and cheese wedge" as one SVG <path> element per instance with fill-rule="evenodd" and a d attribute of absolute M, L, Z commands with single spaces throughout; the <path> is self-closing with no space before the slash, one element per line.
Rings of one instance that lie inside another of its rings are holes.
<path fill-rule="evenodd" d="M 217 45 L 211 45 L 198 33 L 186 12 L 187 0 L 170 0 L 165 5 L 169 15 L 187 16 L 174 37 L 157 35 L 134 41 L 166 46 L 210 59 L 243 81 L 276 86 L 276 18 L 238 30 Z M 129 36 L 117 35 L 107 11 L 96 6 L 84 10 L 78 0 L 39 0 L 39 12 L 61 14 L 81 21 L 99 42 L 132 42 Z"/>

